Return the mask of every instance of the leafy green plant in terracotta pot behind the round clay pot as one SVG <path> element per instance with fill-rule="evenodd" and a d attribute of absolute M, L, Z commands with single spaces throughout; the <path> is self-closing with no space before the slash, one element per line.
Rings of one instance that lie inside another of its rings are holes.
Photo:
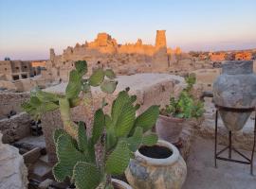
<path fill-rule="evenodd" d="M 179 135 L 185 120 L 199 118 L 203 115 L 204 104 L 192 96 L 192 86 L 195 83 L 193 75 L 186 77 L 187 87 L 177 99 L 170 98 L 170 103 L 160 111 L 155 129 L 160 139 L 174 145 L 179 143 Z"/>

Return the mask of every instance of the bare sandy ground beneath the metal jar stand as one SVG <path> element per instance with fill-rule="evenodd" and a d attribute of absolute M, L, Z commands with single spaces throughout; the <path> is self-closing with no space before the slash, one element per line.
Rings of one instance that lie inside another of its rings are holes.
<path fill-rule="evenodd" d="M 222 149 L 223 146 L 218 146 Z M 214 167 L 214 142 L 196 138 L 188 159 L 188 176 L 183 189 L 256 189 L 256 153 L 254 155 L 254 176 L 251 176 L 247 164 L 217 161 Z M 248 151 L 241 152 L 250 157 Z M 239 158 L 235 152 L 233 158 Z M 227 153 L 223 156 L 227 156 Z M 242 160 L 242 159 L 240 159 Z"/>

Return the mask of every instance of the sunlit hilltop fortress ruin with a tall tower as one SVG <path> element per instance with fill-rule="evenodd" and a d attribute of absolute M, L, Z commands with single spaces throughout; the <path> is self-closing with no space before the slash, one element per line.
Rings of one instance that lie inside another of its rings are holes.
<path fill-rule="evenodd" d="M 164 72 L 179 55 L 179 47 L 174 50 L 167 47 L 165 30 L 156 31 L 155 45 L 144 44 L 141 39 L 137 43 L 119 44 L 109 34 L 99 33 L 93 42 L 68 46 L 62 55 L 55 55 L 54 49 L 50 49 L 50 59 L 42 75 L 67 80 L 76 60 L 86 60 L 90 68 L 110 67 L 122 75 Z"/>

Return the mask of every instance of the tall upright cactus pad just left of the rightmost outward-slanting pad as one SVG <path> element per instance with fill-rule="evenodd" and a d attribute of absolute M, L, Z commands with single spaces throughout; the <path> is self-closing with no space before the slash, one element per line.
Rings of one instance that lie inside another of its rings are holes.
<path fill-rule="evenodd" d="M 125 137 L 133 129 L 136 119 L 136 110 L 131 102 L 127 102 L 122 107 L 117 124 L 115 126 L 116 135 L 118 137 Z"/>

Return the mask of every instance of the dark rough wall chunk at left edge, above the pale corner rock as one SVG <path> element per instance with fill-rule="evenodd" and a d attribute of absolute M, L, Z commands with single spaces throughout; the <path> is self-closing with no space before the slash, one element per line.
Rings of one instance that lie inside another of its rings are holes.
<path fill-rule="evenodd" d="M 3 143 L 13 143 L 30 134 L 31 118 L 26 112 L 0 120 Z"/>

